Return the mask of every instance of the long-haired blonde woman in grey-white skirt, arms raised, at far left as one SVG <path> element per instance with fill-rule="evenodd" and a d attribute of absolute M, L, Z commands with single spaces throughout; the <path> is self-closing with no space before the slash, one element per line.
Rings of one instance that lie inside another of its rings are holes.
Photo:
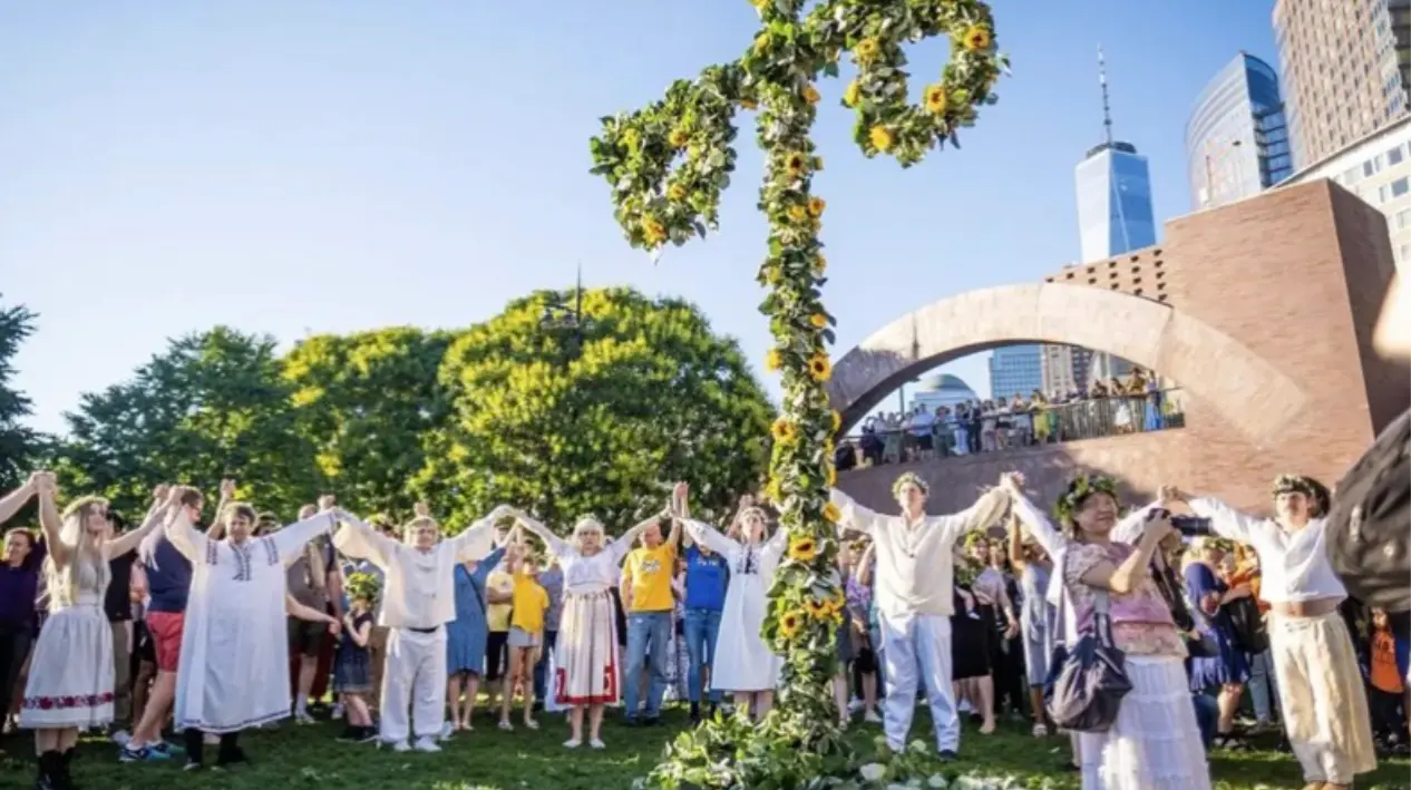
<path fill-rule="evenodd" d="M 107 563 L 135 549 L 174 504 L 166 499 L 166 487 L 159 487 L 141 528 L 107 537 L 106 499 L 75 499 L 61 516 L 54 475 L 38 473 L 30 485 L 40 497 L 40 526 L 49 547 L 44 566 L 49 616 L 31 656 L 20 727 L 34 729 L 40 756 L 35 787 L 69 790 L 79 731 L 113 721 L 113 631 L 103 614 L 111 578 Z"/>

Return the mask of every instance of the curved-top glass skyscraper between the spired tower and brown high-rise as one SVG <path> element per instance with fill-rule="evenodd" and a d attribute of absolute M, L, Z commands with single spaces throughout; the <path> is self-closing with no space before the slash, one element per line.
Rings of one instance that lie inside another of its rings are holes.
<path fill-rule="evenodd" d="M 1259 195 L 1294 174 L 1278 75 L 1240 52 L 1201 92 L 1185 124 L 1195 209 Z"/>

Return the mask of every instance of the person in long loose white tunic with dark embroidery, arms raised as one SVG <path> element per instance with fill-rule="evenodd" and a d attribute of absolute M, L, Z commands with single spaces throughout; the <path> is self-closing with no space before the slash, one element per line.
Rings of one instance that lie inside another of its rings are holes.
<path fill-rule="evenodd" d="M 188 767 L 203 765 L 202 734 L 220 736 L 217 766 L 241 763 L 241 729 L 289 717 L 285 569 L 333 528 L 332 508 L 333 498 L 320 497 L 317 515 L 264 537 L 254 537 L 255 509 L 244 502 L 216 515 L 224 540 L 196 532 L 182 508 L 166 522 L 166 539 L 192 566 L 174 711 Z"/>

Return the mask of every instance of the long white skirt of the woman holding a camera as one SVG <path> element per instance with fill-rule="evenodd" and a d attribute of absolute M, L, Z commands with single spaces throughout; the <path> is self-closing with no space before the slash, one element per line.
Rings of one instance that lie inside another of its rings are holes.
<path fill-rule="evenodd" d="M 1082 790 L 1211 790 L 1185 662 L 1127 656 L 1126 672 L 1112 729 L 1078 736 Z"/>

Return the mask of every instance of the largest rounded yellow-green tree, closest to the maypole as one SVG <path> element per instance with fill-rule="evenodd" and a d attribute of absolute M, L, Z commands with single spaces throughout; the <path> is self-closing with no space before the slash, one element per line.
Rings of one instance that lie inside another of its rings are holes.
<path fill-rule="evenodd" d="M 416 488 L 453 522 L 499 502 L 560 530 L 610 530 L 690 481 L 704 512 L 755 490 L 772 408 L 734 340 L 691 305 L 631 289 L 583 292 L 581 320 L 546 322 L 577 293 L 538 292 L 457 339 L 440 368 L 449 425 Z"/>

